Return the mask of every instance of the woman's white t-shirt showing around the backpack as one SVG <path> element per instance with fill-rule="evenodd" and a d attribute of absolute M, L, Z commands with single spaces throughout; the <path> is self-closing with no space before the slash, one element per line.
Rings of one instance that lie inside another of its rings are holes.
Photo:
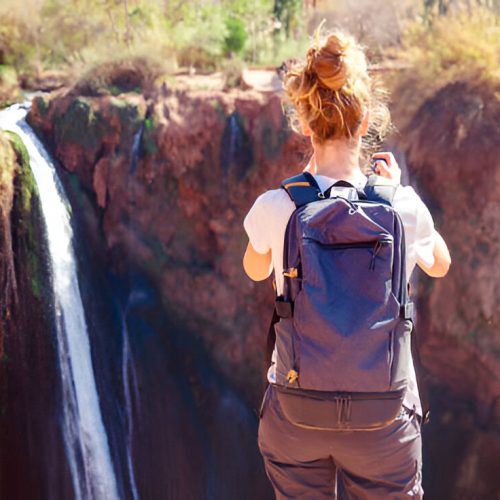
<path fill-rule="evenodd" d="M 339 179 L 315 175 L 320 189 L 325 191 Z M 366 184 L 366 176 L 356 171 L 354 179 L 348 179 L 357 188 Z M 428 267 L 434 264 L 434 222 L 432 216 L 411 186 L 400 186 L 396 190 L 393 207 L 401 216 L 405 228 L 406 276 L 410 279 L 417 260 Z M 261 194 L 253 204 L 243 222 L 253 248 L 262 254 L 271 250 L 277 294 L 283 293 L 283 245 L 285 230 L 295 205 L 284 189 L 271 189 Z M 276 348 L 268 372 L 270 383 L 276 381 Z M 413 366 L 404 401 L 408 408 L 417 408 L 421 414 L 420 400 Z"/>

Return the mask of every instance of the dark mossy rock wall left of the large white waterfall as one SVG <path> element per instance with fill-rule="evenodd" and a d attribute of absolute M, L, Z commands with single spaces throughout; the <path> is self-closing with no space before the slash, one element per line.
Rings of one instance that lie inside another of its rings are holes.
<path fill-rule="evenodd" d="M 43 219 L 27 152 L 3 131 L 0 228 L 0 497 L 70 498 Z"/>

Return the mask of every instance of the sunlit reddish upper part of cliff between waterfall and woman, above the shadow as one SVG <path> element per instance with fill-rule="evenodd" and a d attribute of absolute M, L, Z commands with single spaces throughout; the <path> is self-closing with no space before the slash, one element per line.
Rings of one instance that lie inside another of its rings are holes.
<path fill-rule="evenodd" d="M 37 98 L 29 120 L 92 193 L 114 268 L 137 263 L 256 405 L 272 293 L 244 276 L 242 219 L 301 159 L 279 99 L 164 90 L 146 112 L 131 94 L 60 94 Z"/>

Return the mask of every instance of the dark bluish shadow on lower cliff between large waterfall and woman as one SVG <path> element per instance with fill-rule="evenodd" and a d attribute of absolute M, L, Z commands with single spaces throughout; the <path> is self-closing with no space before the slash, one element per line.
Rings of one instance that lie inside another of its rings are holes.
<path fill-rule="evenodd" d="M 101 407 L 124 498 L 272 498 L 257 411 L 218 373 L 199 334 L 166 311 L 133 260 L 111 270 L 99 213 L 74 174 L 83 290 Z"/>

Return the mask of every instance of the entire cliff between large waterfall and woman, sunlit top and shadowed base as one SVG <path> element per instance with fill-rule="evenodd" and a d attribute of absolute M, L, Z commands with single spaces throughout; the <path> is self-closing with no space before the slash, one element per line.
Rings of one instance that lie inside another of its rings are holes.
<path fill-rule="evenodd" d="M 126 334 L 141 497 L 271 498 L 256 426 L 272 288 L 243 275 L 242 218 L 294 171 L 300 141 L 276 97 L 163 91 L 147 104 L 60 93 L 29 117 L 64 167 L 82 274 L 99 277 L 82 276 L 104 413 L 124 418 L 106 400 L 123 391 Z"/>

